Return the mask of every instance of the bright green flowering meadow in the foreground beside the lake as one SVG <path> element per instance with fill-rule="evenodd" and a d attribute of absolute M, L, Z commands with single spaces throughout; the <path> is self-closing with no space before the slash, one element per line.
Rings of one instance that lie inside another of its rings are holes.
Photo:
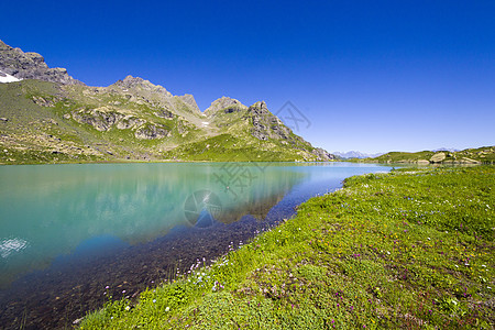
<path fill-rule="evenodd" d="M 212 265 L 138 301 L 110 299 L 80 328 L 493 329 L 494 187 L 493 166 L 349 178 Z"/>

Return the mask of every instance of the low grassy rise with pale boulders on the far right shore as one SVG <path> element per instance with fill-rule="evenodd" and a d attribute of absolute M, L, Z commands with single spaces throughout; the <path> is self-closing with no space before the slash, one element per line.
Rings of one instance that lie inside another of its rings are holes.
<path fill-rule="evenodd" d="M 364 163 L 387 164 L 493 164 L 495 146 L 482 146 L 463 151 L 421 151 L 416 153 L 389 152 L 374 158 L 361 160 Z"/>

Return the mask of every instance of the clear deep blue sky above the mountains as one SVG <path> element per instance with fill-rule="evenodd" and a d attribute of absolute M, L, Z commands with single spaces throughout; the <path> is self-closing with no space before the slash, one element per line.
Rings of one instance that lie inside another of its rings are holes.
<path fill-rule="evenodd" d="M 328 151 L 495 144 L 495 1 L 3 1 L 0 38 L 205 110 L 290 100 Z"/>

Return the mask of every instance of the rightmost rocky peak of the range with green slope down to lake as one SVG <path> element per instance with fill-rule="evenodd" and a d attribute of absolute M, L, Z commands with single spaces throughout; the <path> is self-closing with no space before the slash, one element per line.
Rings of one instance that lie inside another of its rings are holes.
<path fill-rule="evenodd" d="M 195 161 L 329 161 L 333 155 L 315 148 L 294 134 L 272 114 L 265 102 L 245 107 L 239 101 L 215 101 L 206 111 L 206 127 L 216 134 L 207 140 L 184 144 L 168 158 Z"/>

